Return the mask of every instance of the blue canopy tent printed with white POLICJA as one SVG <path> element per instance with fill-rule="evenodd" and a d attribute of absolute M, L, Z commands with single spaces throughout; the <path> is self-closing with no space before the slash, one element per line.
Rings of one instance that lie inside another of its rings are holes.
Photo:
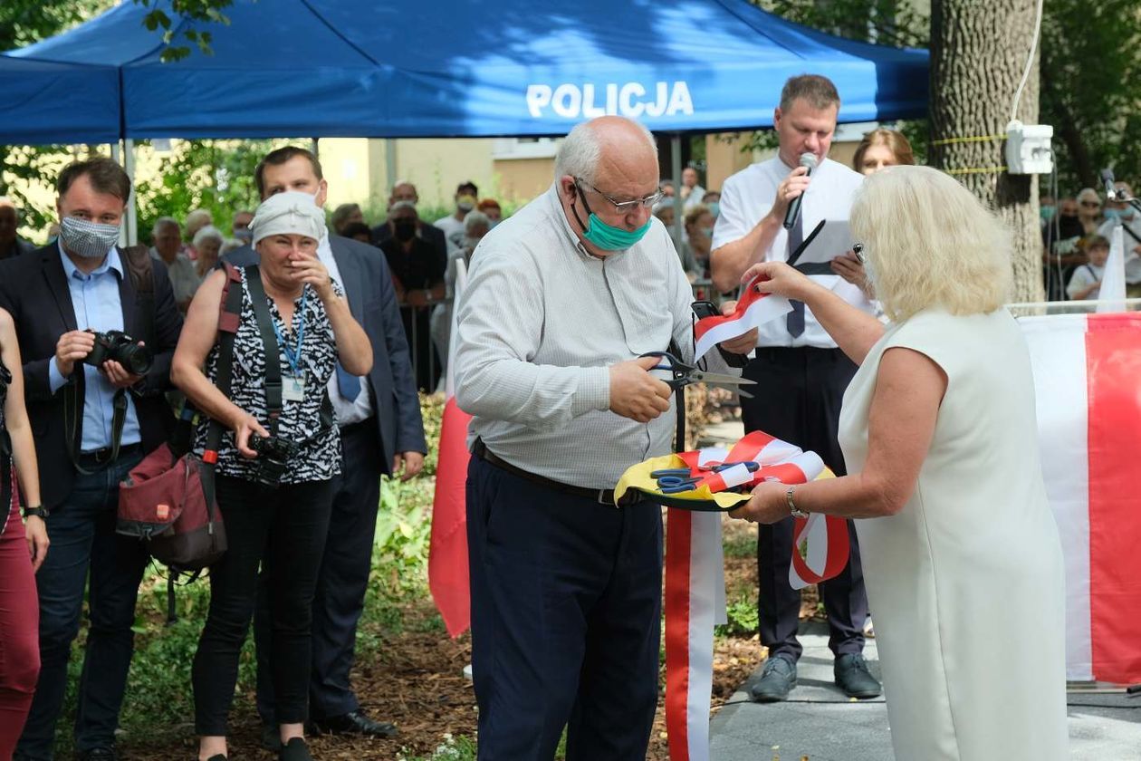
<path fill-rule="evenodd" d="M 926 51 L 830 37 L 745 0 L 497 0 L 429 13 L 408 2 L 235 0 L 229 25 L 201 27 L 213 55 L 173 63 L 160 60 L 147 10 L 122 3 L 10 51 L 0 72 L 13 58 L 118 71 L 119 136 L 131 139 L 560 135 L 604 113 L 655 131 L 747 129 L 771 126 L 780 84 L 802 72 L 836 83 L 842 121 L 926 111 Z M 65 89 L 27 105 L 7 99 L 0 143 L 111 137 L 110 100 Z M 64 129 L 73 122 L 91 131 Z"/>

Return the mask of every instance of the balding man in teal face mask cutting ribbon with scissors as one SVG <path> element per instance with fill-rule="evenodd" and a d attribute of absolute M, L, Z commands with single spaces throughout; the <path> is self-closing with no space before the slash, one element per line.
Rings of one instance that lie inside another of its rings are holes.
<path fill-rule="evenodd" d="M 671 345 L 693 355 L 689 282 L 650 214 L 661 197 L 653 136 L 602 116 L 570 131 L 550 189 L 472 257 L 455 372 L 456 400 L 474 415 L 483 761 L 549 760 L 564 727 L 568 761 L 646 758 L 662 519 L 653 504 L 615 505 L 613 489 L 626 468 L 671 450 L 672 394 L 640 355 Z"/>

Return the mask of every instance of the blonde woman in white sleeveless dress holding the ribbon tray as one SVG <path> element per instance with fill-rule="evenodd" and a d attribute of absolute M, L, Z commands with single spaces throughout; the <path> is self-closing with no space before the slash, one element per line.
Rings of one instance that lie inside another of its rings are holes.
<path fill-rule="evenodd" d="M 808 303 L 859 365 L 840 415 L 849 475 L 763 484 L 733 515 L 860 519 L 898 761 L 1068 759 L 1062 556 L 1029 356 L 1002 306 L 1010 235 L 925 167 L 867 178 L 851 227 L 885 327 L 784 264 L 743 277 Z"/>

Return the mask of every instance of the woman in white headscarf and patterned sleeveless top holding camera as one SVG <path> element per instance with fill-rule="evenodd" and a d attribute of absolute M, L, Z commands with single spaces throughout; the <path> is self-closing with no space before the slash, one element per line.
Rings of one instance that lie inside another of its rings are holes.
<path fill-rule="evenodd" d="M 202 761 L 226 759 L 238 654 L 257 600 L 258 568 L 265 564 L 280 758 L 306 761 L 311 758 L 302 737 L 311 606 L 332 478 L 341 471 L 327 386 L 338 362 L 353 375 L 367 374 L 372 347 L 317 258 L 325 217 L 311 195 L 269 196 L 250 229 L 259 264 L 236 270 L 237 278 L 216 270 L 203 282 L 172 366 L 175 383 L 229 430 L 216 469 L 229 547 L 210 568 L 210 612 L 194 657 L 195 730 Z M 219 303 L 232 289 L 241 289 L 241 314 L 233 356 L 221 357 Z M 228 398 L 218 388 L 227 362 Z M 199 429 L 200 454 L 208 429 L 209 421 Z"/>

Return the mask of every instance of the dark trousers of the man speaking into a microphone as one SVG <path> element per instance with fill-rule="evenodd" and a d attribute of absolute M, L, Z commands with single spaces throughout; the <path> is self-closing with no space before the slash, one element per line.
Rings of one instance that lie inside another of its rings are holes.
<path fill-rule="evenodd" d="M 840 405 L 856 365 L 840 349 L 810 347 L 760 348 L 744 375 L 756 381 L 752 399 L 742 399 L 745 431 L 766 434 L 816 452 L 837 476 L 847 473 L 836 442 Z M 796 640 L 800 592 L 788 585 L 793 519 L 759 526 L 756 570 L 760 580 L 758 613 L 761 643 L 769 655 L 794 661 L 802 651 Z M 839 576 L 819 584 L 828 615 L 828 647 L 835 655 L 864 649 L 867 597 L 860 567 L 856 528 L 848 521 L 851 553 Z"/>

